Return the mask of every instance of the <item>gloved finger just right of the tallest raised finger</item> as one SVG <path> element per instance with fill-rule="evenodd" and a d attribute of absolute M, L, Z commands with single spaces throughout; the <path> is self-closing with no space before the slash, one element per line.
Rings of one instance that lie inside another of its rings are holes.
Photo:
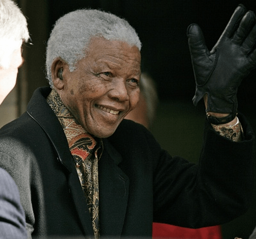
<path fill-rule="evenodd" d="M 233 36 L 233 41 L 241 45 L 244 40 L 247 38 L 248 34 L 250 33 L 251 29 L 255 25 L 255 15 L 252 11 L 248 11 L 242 21 L 240 22 L 240 25 L 238 29 L 235 31 Z"/>

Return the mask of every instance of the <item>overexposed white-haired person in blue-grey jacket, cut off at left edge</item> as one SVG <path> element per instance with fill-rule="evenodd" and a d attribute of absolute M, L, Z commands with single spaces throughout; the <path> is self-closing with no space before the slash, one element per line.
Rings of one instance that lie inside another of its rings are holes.
<path fill-rule="evenodd" d="M 0 104 L 13 89 L 23 60 L 21 47 L 29 39 L 27 22 L 10 0 L 0 1 Z M 1 158 L 0 158 L 1 160 Z M 0 168 L 0 238 L 26 238 L 25 214 L 12 177 Z"/>

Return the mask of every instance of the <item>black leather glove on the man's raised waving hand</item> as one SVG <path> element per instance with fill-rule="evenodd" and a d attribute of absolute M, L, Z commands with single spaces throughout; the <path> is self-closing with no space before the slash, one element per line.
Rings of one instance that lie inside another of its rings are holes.
<path fill-rule="evenodd" d="M 194 105 L 208 95 L 207 112 L 229 114 L 221 122 L 229 122 L 237 113 L 237 87 L 256 66 L 256 19 L 252 11 L 239 5 L 218 42 L 209 52 L 198 25 L 187 28 L 192 65 L 196 80 Z M 214 122 L 213 122 L 214 123 Z"/>

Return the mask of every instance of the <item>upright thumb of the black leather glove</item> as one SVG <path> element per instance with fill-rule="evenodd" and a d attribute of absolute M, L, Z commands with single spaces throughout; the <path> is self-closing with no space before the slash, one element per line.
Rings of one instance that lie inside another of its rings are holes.
<path fill-rule="evenodd" d="M 191 24 L 189 27 L 187 27 L 187 37 L 189 38 L 191 55 L 202 56 L 209 54 L 209 50 L 204 41 L 203 33 L 197 24 Z"/>

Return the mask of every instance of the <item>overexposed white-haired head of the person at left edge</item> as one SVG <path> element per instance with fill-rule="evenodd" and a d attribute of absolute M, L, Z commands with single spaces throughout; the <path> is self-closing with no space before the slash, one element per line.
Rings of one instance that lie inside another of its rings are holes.
<path fill-rule="evenodd" d="M 27 21 L 11 0 L 0 0 L 0 104 L 16 84 L 22 65 L 22 43 L 27 42 Z"/>

